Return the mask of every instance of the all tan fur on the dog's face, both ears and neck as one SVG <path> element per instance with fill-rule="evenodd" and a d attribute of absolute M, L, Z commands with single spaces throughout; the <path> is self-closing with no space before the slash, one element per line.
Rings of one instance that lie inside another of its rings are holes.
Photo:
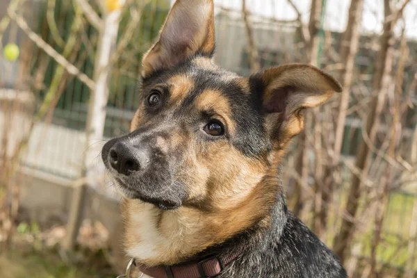
<path fill-rule="evenodd" d="M 213 1 L 177 0 L 158 42 L 143 59 L 142 76 L 176 65 L 197 51 L 210 54 L 213 48 Z M 218 69 L 211 58 L 197 57 L 191 63 L 205 70 Z M 255 222 L 263 227 L 269 224 L 268 209 L 281 190 L 277 184 L 277 165 L 290 139 L 304 126 L 300 109 L 321 104 L 341 88 L 331 76 L 309 65 L 275 67 L 257 76 L 266 86 L 264 104 L 279 89 L 295 89 L 288 95 L 284 111 L 265 116 L 268 136 L 279 134 L 279 140 L 272 142 L 272 152 L 250 158 L 225 138 L 202 142 L 197 134 L 184 133 L 179 124 L 170 126 L 169 135 L 156 137 L 154 147 L 167 156 L 181 149 L 183 161 L 175 172 L 175 181 L 187 187 L 188 198 L 172 211 L 162 211 L 138 199 L 124 199 L 124 245 L 129 256 L 149 266 L 172 265 L 208 246 L 224 242 Z M 164 85 L 170 90 L 170 103 L 164 108 L 165 112 L 178 107 L 193 91 L 192 78 L 178 74 L 165 81 Z M 244 94 L 261 93 L 250 92 L 249 79 L 236 74 L 224 74 L 221 81 L 236 84 Z M 231 115 L 229 100 L 220 90 L 204 90 L 191 108 L 194 112 L 190 113 L 214 111 L 215 117 L 227 126 L 227 132 L 232 136 L 236 133 L 238 126 Z M 147 117 L 144 111 L 141 104 L 131 130 L 158 120 L 155 115 Z"/>

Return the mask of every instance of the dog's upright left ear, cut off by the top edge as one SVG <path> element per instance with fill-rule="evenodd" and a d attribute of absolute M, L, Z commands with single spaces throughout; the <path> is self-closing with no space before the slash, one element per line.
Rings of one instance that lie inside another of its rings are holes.
<path fill-rule="evenodd" d="M 177 0 L 158 42 L 142 60 L 142 76 L 177 65 L 197 53 L 212 56 L 213 51 L 213 0 Z"/>

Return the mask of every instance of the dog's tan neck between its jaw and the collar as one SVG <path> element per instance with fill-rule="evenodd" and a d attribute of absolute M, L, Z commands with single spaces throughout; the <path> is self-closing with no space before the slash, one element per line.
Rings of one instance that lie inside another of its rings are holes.
<path fill-rule="evenodd" d="M 238 226 L 239 218 L 241 213 L 248 213 L 245 209 L 236 215 L 224 216 L 222 223 L 215 223 L 219 218 L 195 208 L 161 211 L 152 204 L 126 199 L 123 215 L 127 253 L 140 263 L 154 266 L 174 265 L 208 254 L 236 252 L 236 248 L 262 248 L 260 244 L 265 241 L 261 238 L 265 238 L 265 234 L 279 238 L 286 223 L 286 202 L 281 190 L 275 201 L 269 206 L 268 213 L 248 222 L 242 229 Z M 264 206 L 268 207 L 268 204 Z"/>

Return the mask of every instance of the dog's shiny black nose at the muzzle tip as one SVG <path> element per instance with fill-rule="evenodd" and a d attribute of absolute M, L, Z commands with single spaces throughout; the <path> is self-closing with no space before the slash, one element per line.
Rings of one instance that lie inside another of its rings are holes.
<path fill-rule="evenodd" d="M 129 174 L 140 170 L 140 155 L 138 149 L 124 142 L 117 142 L 108 152 L 108 162 L 120 174 Z"/>

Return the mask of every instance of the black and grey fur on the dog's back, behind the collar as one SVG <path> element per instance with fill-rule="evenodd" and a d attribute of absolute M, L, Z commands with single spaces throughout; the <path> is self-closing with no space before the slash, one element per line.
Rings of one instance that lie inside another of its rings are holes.
<path fill-rule="evenodd" d="M 252 229 L 199 254 L 225 256 L 243 252 L 217 278 L 345 278 L 337 256 L 286 208 L 279 193 L 269 229 Z"/>

